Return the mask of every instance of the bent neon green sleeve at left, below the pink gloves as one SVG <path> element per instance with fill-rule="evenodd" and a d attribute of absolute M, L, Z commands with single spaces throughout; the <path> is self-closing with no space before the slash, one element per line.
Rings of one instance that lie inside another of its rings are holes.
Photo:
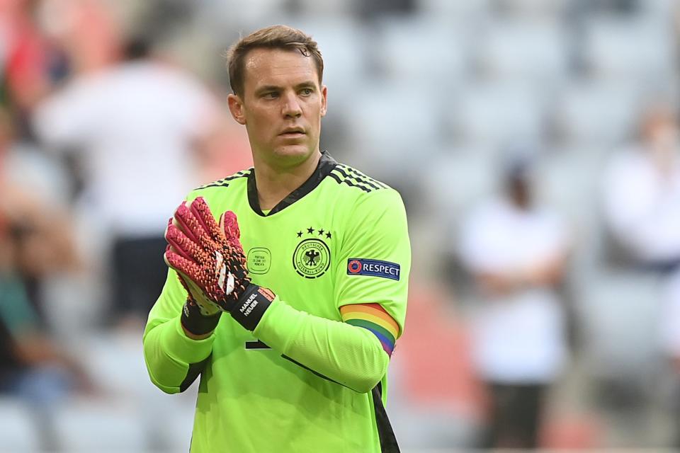
<path fill-rule="evenodd" d="M 144 358 L 151 381 L 166 393 L 184 391 L 198 377 L 212 352 L 215 333 L 203 340 L 192 340 L 183 331 L 181 310 L 186 290 L 176 272 L 168 276 L 144 331 Z"/>

